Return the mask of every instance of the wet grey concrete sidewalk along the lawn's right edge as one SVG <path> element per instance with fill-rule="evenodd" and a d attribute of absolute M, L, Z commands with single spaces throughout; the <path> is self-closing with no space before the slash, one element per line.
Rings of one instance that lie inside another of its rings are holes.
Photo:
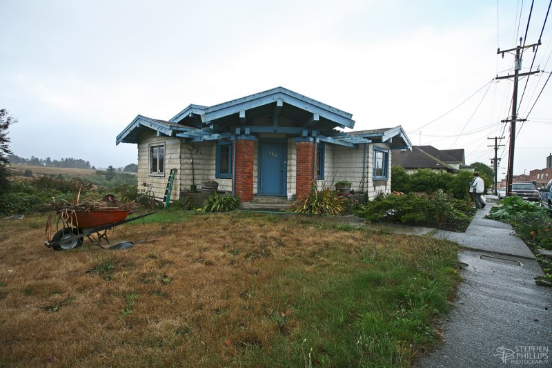
<path fill-rule="evenodd" d="M 464 248 L 465 280 L 442 325 L 444 344 L 421 367 L 552 367 L 552 289 L 535 285 L 544 274 L 511 226 L 484 218 L 492 204 L 465 233 L 433 235 Z"/>

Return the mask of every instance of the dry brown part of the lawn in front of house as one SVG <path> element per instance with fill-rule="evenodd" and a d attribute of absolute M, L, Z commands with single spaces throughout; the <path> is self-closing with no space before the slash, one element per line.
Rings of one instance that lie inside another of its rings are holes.
<path fill-rule="evenodd" d="M 297 217 L 221 214 L 119 226 L 110 241 L 135 242 L 126 251 L 85 240 L 56 252 L 42 244 L 45 221 L 0 221 L 2 366 L 240 365 L 302 329 L 290 308 L 300 285 L 282 273 L 339 267 L 338 249 L 415 251 L 400 235 L 390 245 Z"/>

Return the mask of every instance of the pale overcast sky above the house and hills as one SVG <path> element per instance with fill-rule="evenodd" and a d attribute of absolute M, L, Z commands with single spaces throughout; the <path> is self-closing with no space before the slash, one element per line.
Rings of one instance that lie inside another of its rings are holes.
<path fill-rule="evenodd" d="M 137 146 L 115 146 L 115 137 L 136 115 L 170 119 L 188 104 L 283 86 L 352 113 L 355 130 L 401 124 L 413 144 L 464 148 L 467 163 L 490 164 L 486 138 L 504 130 L 513 88 L 491 82 L 513 68 L 513 57 L 496 50 L 524 37 L 530 6 L 1 0 L 0 108 L 19 119 L 10 129 L 17 155 L 124 166 L 136 162 Z M 535 0 L 527 44 L 538 41 L 548 6 Z M 551 23 L 535 57 L 546 72 L 529 77 L 520 117 L 552 71 Z M 522 71 L 532 60 L 527 50 Z M 544 168 L 552 152 L 551 91 L 552 83 L 517 133 L 516 174 Z M 499 155 L 502 174 L 507 151 Z"/>

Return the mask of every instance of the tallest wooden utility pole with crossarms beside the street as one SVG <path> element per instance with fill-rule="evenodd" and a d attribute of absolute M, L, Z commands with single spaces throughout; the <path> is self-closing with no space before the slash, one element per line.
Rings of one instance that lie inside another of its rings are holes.
<path fill-rule="evenodd" d="M 535 46 L 540 46 L 540 40 L 538 43 L 533 43 L 532 45 L 528 46 L 521 46 L 521 43 L 523 41 L 523 38 L 520 37 L 520 46 L 516 46 L 515 48 L 511 48 L 509 50 L 500 51 L 500 48 L 497 50 L 497 54 L 502 53 L 502 57 L 504 57 L 504 52 L 512 52 L 515 51 L 515 63 L 514 63 L 514 75 L 513 75 L 513 96 L 512 96 L 512 118 L 511 119 L 505 119 L 502 120 L 503 123 L 509 122 L 510 123 L 510 152 L 508 155 L 508 173 L 506 175 L 506 197 L 510 196 L 510 193 L 512 191 L 512 179 L 513 179 L 513 153 L 515 148 L 515 122 L 524 122 L 526 119 L 517 119 L 517 82 L 520 80 L 520 77 L 523 76 L 529 76 L 531 74 L 535 74 L 540 72 L 540 70 L 535 70 L 534 72 L 524 72 L 520 73 L 520 70 L 522 68 L 522 59 L 520 59 L 520 51 L 524 50 L 526 48 L 534 48 Z M 511 78 L 511 75 L 504 75 L 503 77 L 496 77 L 495 79 L 506 79 Z"/>

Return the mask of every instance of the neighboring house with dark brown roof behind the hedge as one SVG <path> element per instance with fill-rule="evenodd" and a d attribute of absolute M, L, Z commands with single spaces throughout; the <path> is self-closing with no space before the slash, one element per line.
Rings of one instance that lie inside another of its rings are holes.
<path fill-rule="evenodd" d="M 393 155 L 393 165 L 402 166 L 407 173 L 415 173 L 420 168 L 456 173 L 472 170 L 466 166 L 463 149 L 439 150 L 433 146 L 412 146 L 412 151 L 400 151 Z"/>

